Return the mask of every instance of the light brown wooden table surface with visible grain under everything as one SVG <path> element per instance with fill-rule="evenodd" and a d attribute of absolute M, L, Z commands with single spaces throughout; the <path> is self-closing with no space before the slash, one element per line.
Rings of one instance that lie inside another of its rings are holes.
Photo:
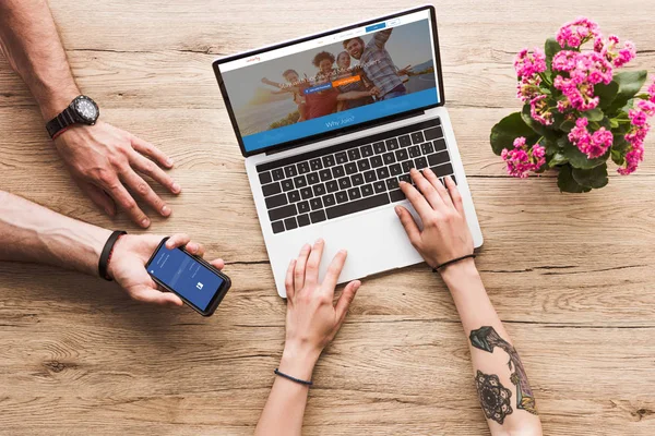
<path fill-rule="evenodd" d="M 582 4 L 585 3 L 585 4 Z M 353 5 L 348 9 L 348 5 Z M 408 8 L 410 1 L 52 0 L 74 74 L 103 118 L 175 158 L 183 187 L 152 231 L 187 231 L 234 288 L 215 316 L 145 306 L 111 283 L 0 264 L 0 433 L 251 434 L 284 340 L 242 157 L 211 69 L 221 55 Z M 326 12 L 329 11 L 329 12 Z M 444 0 L 445 98 L 486 239 L 478 267 L 520 350 L 546 434 L 655 433 L 655 159 L 586 195 L 507 177 L 489 130 L 520 108 L 512 59 L 577 15 L 635 41 L 655 71 L 655 3 Z M 0 60 L 0 189 L 135 231 L 82 197 L 27 88 Z M 365 280 L 321 358 L 308 435 L 478 435 L 467 343 L 425 265 Z"/>

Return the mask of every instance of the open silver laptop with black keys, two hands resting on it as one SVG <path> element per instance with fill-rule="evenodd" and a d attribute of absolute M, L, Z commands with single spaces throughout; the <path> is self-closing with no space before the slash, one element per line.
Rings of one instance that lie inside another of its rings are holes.
<path fill-rule="evenodd" d="M 443 96 L 431 5 L 219 58 L 214 72 L 271 259 L 325 241 L 320 278 L 348 251 L 340 283 L 422 262 L 394 211 L 412 168 L 451 175 L 475 246 L 483 235 Z M 420 222 L 420 221 L 418 221 Z"/>

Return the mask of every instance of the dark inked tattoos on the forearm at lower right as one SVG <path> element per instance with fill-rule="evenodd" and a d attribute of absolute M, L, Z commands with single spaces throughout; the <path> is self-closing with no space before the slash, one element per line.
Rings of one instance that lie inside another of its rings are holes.
<path fill-rule="evenodd" d="M 500 335 L 496 332 L 493 327 L 489 326 L 480 327 L 477 330 L 473 330 L 471 332 L 469 339 L 471 344 L 477 349 L 492 353 L 493 348 L 498 347 L 510 355 L 508 366 L 510 367 L 510 371 L 512 371 L 512 374 L 510 374 L 510 380 L 512 380 L 512 384 L 516 385 L 516 409 L 522 409 L 536 415 L 537 405 L 535 402 L 535 396 L 533 395 L 529 384 L 527 383 L 527 375 L 525 374 L 525 370 L 523 368 L 523 364 L 521 363 L 521 359 L 519 358 L 519 353 L 516 353 L 514 347 L 512 347 L 508 341 L 502 339 Z M 481 373 L 478 372 L 478 378 L 479 374 Z M 485 413 L 487 413 L 486 410 Z M 512 413 L 511 410 L 507 414 L 510 413 Z M 489 415 L 487 415 L 487 417 L 489 417 Z"/>

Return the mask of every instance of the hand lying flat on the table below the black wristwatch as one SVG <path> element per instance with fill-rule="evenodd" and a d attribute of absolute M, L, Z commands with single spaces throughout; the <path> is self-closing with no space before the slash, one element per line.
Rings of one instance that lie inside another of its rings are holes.
<path fill-rule="evenodd" d="M 128 189 L 162 216 L 170 215 L 170 207 L 140 175 L 148 175 L 174 194 L 181 191 L 160 168 L 171 168 L 172 160 L 154 145 L 102 121 L 72 126 L 55 145 L 75 183 L 107 215 L 116 215 L 118 206 L 136 225 L 150 226 Z"/>

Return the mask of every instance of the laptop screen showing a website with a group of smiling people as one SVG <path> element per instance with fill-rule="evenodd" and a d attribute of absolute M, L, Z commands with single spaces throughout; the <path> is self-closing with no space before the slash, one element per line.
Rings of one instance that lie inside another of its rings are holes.
<path fill-rule="evenodd" d="M 216 61 L 243 154 L 439 105 L 432 11 Z"/>

